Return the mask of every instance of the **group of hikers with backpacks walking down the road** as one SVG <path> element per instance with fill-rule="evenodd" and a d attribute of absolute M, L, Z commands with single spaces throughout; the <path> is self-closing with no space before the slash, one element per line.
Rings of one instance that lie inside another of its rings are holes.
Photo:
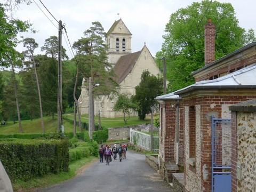
<path fill-rule="evenodd" d="M 103 158 L 106 160 L 106 165 L 112 161 L 112 157 L 114 160 L 117 160 L 117 154 L 119 155 L 119 161 L 122 162 L 122 159 L 126 158 L 126 151 L 127 146 L 125 144 L 120 144 L 118 147 L 114 144 L 114 147 L 111 148 L 111 145 L 100 146 L 99 155 L 100 155 L 100 162 L 103 163 Z"/>

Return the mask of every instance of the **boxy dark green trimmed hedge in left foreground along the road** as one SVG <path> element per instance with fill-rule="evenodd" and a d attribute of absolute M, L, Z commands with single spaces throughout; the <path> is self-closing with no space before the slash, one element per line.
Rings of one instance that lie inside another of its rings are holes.
<path fill-rule="evenodd" d="M 12 181 L 69 170 L 68 140 L 1 139 L 0 157 Z"/>

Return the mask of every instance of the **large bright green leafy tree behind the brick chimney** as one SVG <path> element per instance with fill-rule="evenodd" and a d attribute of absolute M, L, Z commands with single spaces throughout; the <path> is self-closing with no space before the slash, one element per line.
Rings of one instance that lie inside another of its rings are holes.
<path fill-rule="evenodd" d="M 230 3 L 202 1 L 171 14 L 165 26 L 162 50 L 157 59 L 167 58 L 169 91 L 194 83 L 190 73 L 204 66 L 204 25 L 211 18 L 216 26 L 215 60 L 237 50 L 255 39 L 254 31 L 239 27 Z"/>

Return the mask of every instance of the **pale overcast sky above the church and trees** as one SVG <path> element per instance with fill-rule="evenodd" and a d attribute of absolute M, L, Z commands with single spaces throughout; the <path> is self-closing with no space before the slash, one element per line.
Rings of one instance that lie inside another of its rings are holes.
<path fill-rule="evenodd" d="M 0 0 L 0 2 L 3 1 Z M 153 56 L 161 50 L 162 36 L 170 15 L 193 2 L 201 2 L 196 0 L 41 0 L 52 13 L 53 18 L 39 0 L 31 1 L 33 3 L 29 6 L 21 5 L 16 14 L 21 20 L 29 20 L 38 30 L 37 34 L 22 34 L 25 37 L 35 38 L 39 44 L 36 54 L 40 53 L 40 47 L 43 46 L 45 39 L 58 36 L 58 22 L 54 18 L 65 23 L 71 45 L 83 37 L 83 32 L 92 26 L 93 21 L 99 21 L 107 32 L 115 20 L 122 18 L 132 33 L 132 52 L 140 51 L 146 42 Z M 255 0 L 219 0 L 219 2 L 233 5 L 240 27 L 256 30 L 256 22 L 253 18 Z M 62 45 L 72 58 L 66 41 L 62 38 Z M 24 50 L 22 45 L 17 49 Z"/>

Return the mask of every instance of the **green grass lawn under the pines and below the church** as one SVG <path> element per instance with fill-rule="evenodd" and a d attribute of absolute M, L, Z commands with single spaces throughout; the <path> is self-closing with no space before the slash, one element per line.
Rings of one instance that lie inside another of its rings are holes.
<path fill-rule="evenodd" d="M 73 114 L 64 114 L 63 116 L 74 119 Z M 78 118 L 77 118 L 78 119 Z M 88 123 L 88 116 L 82 115 L 81 117 L 82 122 Z M 94 117 L 95 123 L 98 123 L 99 118 L 98 116 Z M 150 119 L 146 118 L 145 120 L 139 120 L 138 117 L 131 117 L 127 124 L 124 124 L 123 118 L 101 118 L 101 126 L 104 127 L 123 127 L 123 126 L 132 126 L 132 125 L 141 125 L 141 124 L 149 124 Z M 44 117 L 44 127 L 45 132 L 57 132 L 57 117 L 52 119 L 52 117 Z M 65 132 L 73 132 L 73 124 L 63 120 L 64 124 L 64 131 Z M 34 120 L 24 120 L 21 121 L 22 131 L 23 133 L 42 133 L 41 127 L 41 118 L 34 119 Z M 79 127 L 76 127 L 77 131 L 79 131 Z M 0 125 L 0 134 L 15 134 L 19 133 L 19 123 L 16 122 L 7 122 L 7 125 Z"/>

